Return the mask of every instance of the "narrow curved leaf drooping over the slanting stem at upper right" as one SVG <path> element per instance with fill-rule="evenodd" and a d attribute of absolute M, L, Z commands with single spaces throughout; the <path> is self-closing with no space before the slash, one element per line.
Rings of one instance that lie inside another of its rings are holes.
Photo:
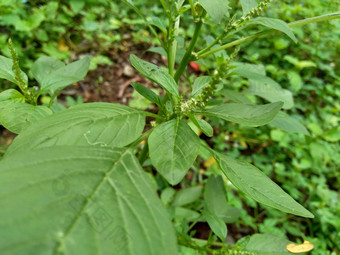
<path fill-rule="evenodd" d="M 288 26 L 286 22 L 280 19 L 266 18 L 266 17 L 258 17 L 255 19 L 251 19 L 247 22 L 247 24 L 257 24 L 266 26 L 275 30 L 279 30 L 282 33 L 285 33 L 290 39 L 292 39 L 295 43 L 297 43 L 297 39 L 292 32 L 292 29 Z"/>

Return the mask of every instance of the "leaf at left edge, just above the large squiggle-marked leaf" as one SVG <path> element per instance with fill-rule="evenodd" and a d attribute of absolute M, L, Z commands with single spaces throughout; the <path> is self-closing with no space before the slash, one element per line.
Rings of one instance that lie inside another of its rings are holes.
<path fill-rule="evenodd" d="M 0 124 L 9 131 L 19 134 L 33 123 L 52 113 L 52 110 L 46 106 L 30 105 L 12 100 L 0 111 Z"/>

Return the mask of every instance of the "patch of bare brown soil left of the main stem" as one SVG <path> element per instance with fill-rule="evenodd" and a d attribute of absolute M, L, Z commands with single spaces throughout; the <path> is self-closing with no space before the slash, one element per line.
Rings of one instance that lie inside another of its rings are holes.
<path fill-rule="evenodd" d="M 112 50 L 107 54 L 113 66 L 98 66 L 89 71 L 86 78 L 61 92 L 61 95 L 81 95 L 84 102 L 110 102 L 128 104 L 133 88 L 131 82 L 139 82 L 148 88 L 156 88 L 130 64 L 130 54 L 135 54 L 156 65 L 165 65 L 166 60 L 160 55 L 147 52 L 150 46 L 133 45 L 123 50 Z M 159 87 L 158 87 L 159 89 Z M 161 92 L 161 91 L 160 91 Z"/>

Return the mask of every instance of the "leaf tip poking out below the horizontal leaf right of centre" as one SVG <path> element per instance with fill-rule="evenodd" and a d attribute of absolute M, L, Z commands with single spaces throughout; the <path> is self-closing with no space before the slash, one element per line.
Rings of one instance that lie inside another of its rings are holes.
<path fill-rule="evenodd" d="M 304 125 L 285 112 L 279 112 L 270 124 L 284 131 L 310 135 Z"/>

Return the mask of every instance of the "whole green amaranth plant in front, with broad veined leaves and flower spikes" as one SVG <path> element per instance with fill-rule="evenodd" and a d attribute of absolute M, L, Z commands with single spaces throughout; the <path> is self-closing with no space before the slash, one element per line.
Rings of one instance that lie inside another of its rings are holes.
<path fill-rule="evenodd" d="M 125 2 L 143 16 L 131 1 Z M 289 241 L 268 235 L 253 235 L 234 246 L 225 243 L 226 222 L 232 215 L 221 175 L 208 178 L 204 207 L 196 212 L 198 216 L 191 217 L 192 212 L 181 205 L 199 197 L 201 187 L 176 194 L 173 206 L 168 207 L 168 212 L 165 210 L 141 165 L 150 157 L 162 178 L 177 185 L 200 149 L 210 153 L 221 174 L 249 197 L 286 213 L 313 218 L 311 212 L 255 166 L 210 148 L 188 122 L 210 137 L 213 128 L 202 116 L 252 127 L 272 124 L 308 135 L 300 123 L 281 111 L 292 107 L 289 91 L 266 77 L 263 70 L 232 61 L 243 42 L 273 31 L 283 32 L 296 41 L 290 27 L 338 18 L 340 14 L 286 24 L 282 20 L 254 17 L 268 1 L 257 4 L 242 0 L 244 14 L 240 18 L 235 15 L 229 18 L 229 3 L 225 0 L 189 0 L 187 5 L 184 0 L 160 2 L 169 26 L 159 19 L 145 21 L 168 56 L 167 69 L 135 55 L 130 57 L 136 70 L 164 89 L 164 96 L 158 96 L 142 84 L 132 84 L 158 106 L 158 114 L 108 103 L 81 104 L 54 113 L 50 107 L 37 105 L 38 97 L 49 94 L 51 106 L 58 91 L 85 76 L 89 58 L 67 66 L 48 57 L 38 59 L 31 71 L 39 88 L 32 89 L 19 69 L 14 50 L 12 60 L 0 57 L 0 77 L 17 84 L 21 90 L 0 94 L 0 123 L 19 134 L 0 162 L 3 254 L 178 254 L 178 244 L 183 254 L 186 249 L 202 254 L 287 253 L 285 245 Z M 192 14 L 195 30 L 175 68 L 180 20 L 187 12 Z M 214 22 L 225 24 L 225 29 L 207 47 L 195 52 L 207 15 Z M 270 30 L 230 41 L 253 24 Z M 156 29 L 163 35 L 159 36 Z M 190 61 L 231 47 L 235 49 L 228 58 L 219 59 L 212 75 L 196 78 L 191 95 L 180 95 L 180 78 Z M 270 103 L 253 104 L 245 95 L 228 90 L 226 98 L 232 103 L 211 100 L 221 79 L 234 74 L 249 79 L 253 93 Z M 146 116 L 155 121 L 143 133 Z M 144 140 L 147 143 L 140 150 Z M 170 187 L 162 192 L 165 205 L 174 192 Z M 172 210 L 177 215 L 191 213 L 184 219 L 192 224 L 175 225 L 175 231 L 169 219 Z M 222 242 L 216 242 L 214 237 L 207 241 L 192 238 L 188 233 L 197 221 L 207 222 Z"/>

